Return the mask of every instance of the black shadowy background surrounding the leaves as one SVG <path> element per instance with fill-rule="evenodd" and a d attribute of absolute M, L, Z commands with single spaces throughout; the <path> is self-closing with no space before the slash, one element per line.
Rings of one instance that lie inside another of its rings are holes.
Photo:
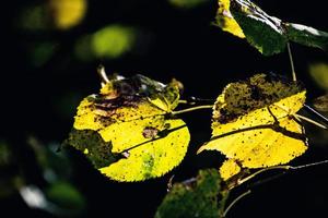
<path fill-rule="evenodd" d="M 216 2 L 207 1 L 192 9 L 183 9 L 168 1 L 116 0 L 89 1 L 84 20 L 68 31 L 26 31 L 20 27 L 20 16 L 27 7 L 42 1 L 12 1 L 7 14 L 9 38 L 3 40 L 4 65 L 1 75 L 2 116 L 1 138 L 12 146 L 15 166 L 24 171 L 27 183 L 47 185 L 26 138 L 33 135 L 47 146 L 62 142 L 73 123 L 79 101 L 99 87 L 96 66 L 102 63 L 108 73 L 126 76 L 136 73 L 167 83 L 176 77 L 185 85 L 185 96 L 215 98 L 230 82 L 254 73 L 274 72 L 290 75 L 286 52 L 262 57 L 245 40 L 233 37 L 211 25 Z M 326 2 L 255 1 L 269 14 L 328 31 Z M 130 51 L 115 58 L 79 60 L 74 45 L 79 37 L 94 33 L 108 24 L 133 26 L 140 31 Z M 7 25 L 5 25 L 7 27 Z M 31 63 L 34 45 L 55 41 L 54 55 L 42 65 Z M 307 99 L 324 94 L 308 74 L 308 64 L 328 61 L 319 49 L 292 44 L 300 81 L 307 87 Z M 142 183 L 117 183 L 101 175 L 82 157 L 68 152 L 72 160 L 69 181 L 85 196 L 83 216 L 104 214 L 106 217 L 152 217 L 166 193 L 169 177 L 175 180 L 194 177 L 204 167 L 218 167 L 222 157 L 204 153 L 196 156 L 197 148 L 210 137 L 210 111 L 183 116 L 191 133 L 188 154 L 183 164 L 169 174 Z M 321 132 L 306 125 L 311 137 L 309 149 L 292 165 L 327 159 L 327 143 L 317 143 Z M 327 133 L 326 133 L 327 134 Z M 320 145 L 326 145 L 320 146 Z M 327 214 L 328 170 L 326 166 L 297 170 L 253 189 L 253 194 L 232 208 L 229 217 L 317 217 Z M 1 187 L 3 189 L 3 186 Z M 244 186 L 244 191 L 247 187 Z M 233 193 L 237 195 L 243 189 Z M 31 209 L 17 194 L 1 198 L 1 214 L 51 216 Z M 25 216 L 24 215 L 24 216 Z M 3 216 L 3 217 L 5 217 Z M 82 215 L 81 215 L 82 216 Z M 2 217 L 2 215 L 1 215 Z"/>

